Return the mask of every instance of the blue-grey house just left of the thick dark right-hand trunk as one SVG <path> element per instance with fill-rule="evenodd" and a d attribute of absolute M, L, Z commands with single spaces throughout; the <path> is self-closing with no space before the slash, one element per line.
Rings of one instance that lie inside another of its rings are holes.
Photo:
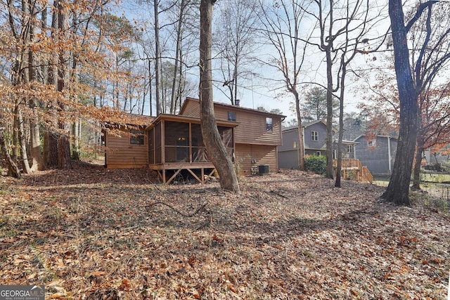
<path fill-rule="evenodd" d="M 390 175 L 397 152 L 397 138 L 393 136 L 361 135 L 355 140 L 355 155 L 372 174 Z"/>

